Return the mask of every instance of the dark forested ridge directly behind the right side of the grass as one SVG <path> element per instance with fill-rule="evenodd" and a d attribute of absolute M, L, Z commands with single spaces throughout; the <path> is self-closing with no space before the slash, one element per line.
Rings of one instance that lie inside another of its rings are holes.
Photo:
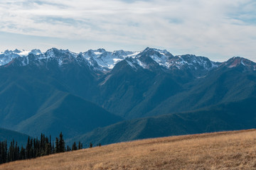
<path fill-rule="evenodd" d="M 255 103 L 256 98 L 247 98 L 198 111 L 126 120 L 74 137 L 70 142 L 106 145 L 151 137 L 251 129 L 256 127 Z"/>

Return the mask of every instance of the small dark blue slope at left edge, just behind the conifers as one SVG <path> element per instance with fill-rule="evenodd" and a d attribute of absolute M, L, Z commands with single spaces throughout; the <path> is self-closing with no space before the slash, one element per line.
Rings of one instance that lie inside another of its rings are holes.
<path fill-rule="evenodd" d="M 18 142 L 18 145 L 23 145 L 25 147 L 26 142 L 28 141 L 28 135 L 0 128 L 0 142 L 5 140 L 7 141 L 7 145 L 10 145 L 10 142 L 15 140 L 15 142 Z"/>

